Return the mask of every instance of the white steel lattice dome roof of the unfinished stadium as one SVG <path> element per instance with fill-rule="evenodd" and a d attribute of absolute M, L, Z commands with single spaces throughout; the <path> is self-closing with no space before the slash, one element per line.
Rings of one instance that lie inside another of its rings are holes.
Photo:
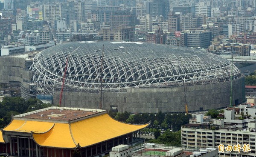
<path fill-rule="evenodd" d="M 79 91 L 99 90 L 101 76 L 105 91 L 176 86 L 183 82 L 186 85 L 225 82 L 231 80 L 232 68 L 233 79 L 241 76 L 226 59 L 198 49 L 95 41 L 65 43 L 39 52 L 30 69 L 34 71 L 33 83 L 46 94 L 61 88 L 67 58 L 64 87 Z"/>

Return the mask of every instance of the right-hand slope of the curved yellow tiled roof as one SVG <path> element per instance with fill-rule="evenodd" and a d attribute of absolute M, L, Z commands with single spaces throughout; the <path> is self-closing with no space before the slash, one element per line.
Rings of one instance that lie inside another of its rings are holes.
<path fill-rule="evenodd" d="M 112 119 L 108 114 L 102 114 L 70 124 L 73 138 L 81 147 L 119 137 L 145 128 L 146 126 L 148 126 L 148 124 L 132 125 L 121 123 Z"/>

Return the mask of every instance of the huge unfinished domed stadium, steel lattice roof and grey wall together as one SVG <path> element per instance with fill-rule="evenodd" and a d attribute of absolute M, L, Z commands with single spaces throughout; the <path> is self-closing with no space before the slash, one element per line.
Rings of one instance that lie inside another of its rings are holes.
<path fill-rule="evenodd" d="M 232 63 L 198 49 L 168 45 L 66 43 L 36 54 L 28 73 L 36 94 L 52 96 L 54 104 L 65 75 L 63 107 L 100 108 L 102 95 L 103 109 L 185 112 L 186 93 L 189 111 L 223 108 L 230 104 L 231 80 L 232 103 L 245 100 L 244 77 Z"/>

